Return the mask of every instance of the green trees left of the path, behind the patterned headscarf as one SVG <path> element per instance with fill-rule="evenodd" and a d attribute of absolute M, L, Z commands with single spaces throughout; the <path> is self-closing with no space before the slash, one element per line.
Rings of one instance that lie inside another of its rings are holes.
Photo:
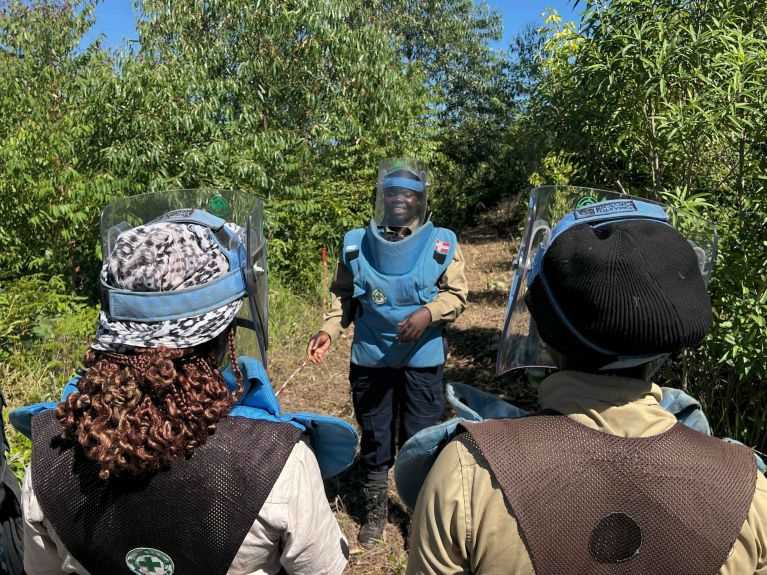
<path fill-rule="evenodd" d="M 80 291 L 109 199 L 196 186 L 267 199 L 272 269 L 305 288 L 319 249 L 369 217 L 380 159 L 456 171 L 444 134 L 463 129 L 498 61 L 486 45 L 497 15 L 467 0 L 145 0 L 138 43 L 113 54 L 80 47 L 94 4 L 4 1 L 0 26 L 13 87 L 0 257 Z"/>

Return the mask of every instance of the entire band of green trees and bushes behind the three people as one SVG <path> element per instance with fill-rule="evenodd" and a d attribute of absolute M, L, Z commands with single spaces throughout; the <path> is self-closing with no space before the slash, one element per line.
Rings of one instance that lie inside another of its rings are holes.
<path fill-rule="evenodd" d="M 369 218 L 378 161 L 410 155 L 443 225 L 544 183 L 715 221 L 716 323 L 666 378 L 767 443 L 767 0 L 586 0 L 508 51 L 472 0 L 143 0 L 113 52 L 83 45 L 96 1 L 0 0 L 0 299 L 51 292 L 0 321 L 7 345 L 52 309 L 87 315 L 67 297 L 95 296 L 113 198 L 262 196 L 270 270 L 312 291 L 320 249 Z"/>

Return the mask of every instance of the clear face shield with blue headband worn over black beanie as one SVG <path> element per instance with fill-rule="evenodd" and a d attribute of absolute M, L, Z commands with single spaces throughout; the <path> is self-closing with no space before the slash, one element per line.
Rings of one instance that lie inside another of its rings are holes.
<path fill-rule="evenodd" d="M 524 231 L 517 256 L 512 261 L 514 278 L 498 347 L 497 375 L 522 368 L 556 368 L 525 304 L 528 287 L 540 271 L 547 247 L 563 231 L 577 223 L 596 227 L 619 219 L 652 219 L 674 227 L 692 247 L 704 283 L 708 284 L 717 244 L 716 227 L 711 222 L 691 212 L 618 192 L 576 186 L 535 188 L 530 192 Z M 601 353 L 601 350 L 595 351 Z M 622 356 L 602 369 L 626 368 L 653 361 L 660 364 L 664 358 L 665 355 Z"/>

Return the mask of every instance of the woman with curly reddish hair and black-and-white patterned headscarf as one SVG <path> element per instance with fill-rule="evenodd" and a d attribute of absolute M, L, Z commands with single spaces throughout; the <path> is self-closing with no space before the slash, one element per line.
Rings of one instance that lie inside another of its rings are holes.
<path fill-rule="evenodd" d="M 346 565 L 301 430 L 228 416 L 260 385 L 235 352 L 241 294 L 223 304 L 211 296 L 243 265 L 237 245 L 224 247 L 241 232 L 191 212 L 119 235 L 77 391 L 32 419 L 28 575 L 334 574 Z M 195 315 L 177 313 L 179 302 Z M 158 320 L 146 321 L 146 309 Z"/>

